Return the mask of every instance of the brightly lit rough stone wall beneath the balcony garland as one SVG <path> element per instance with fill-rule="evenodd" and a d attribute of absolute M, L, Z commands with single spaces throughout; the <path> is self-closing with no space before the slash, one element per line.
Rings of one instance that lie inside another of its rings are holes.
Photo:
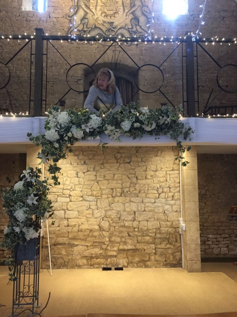
<path fill-rule="evenodd" d="M 53 268 L 180 267 L 179 164 L 172 147 L 75 147 L 52 188 Z M 42 268 L 49 267 L 47 233 Z"/>

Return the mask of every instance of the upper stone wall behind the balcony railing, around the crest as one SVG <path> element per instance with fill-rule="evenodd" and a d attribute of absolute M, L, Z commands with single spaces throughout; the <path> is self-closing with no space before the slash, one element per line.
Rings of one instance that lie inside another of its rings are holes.
<path fill-rule="evenodd" d="M 152 1 L 143 1 L 143 3 L 146 3 L 149 7 L 151 7 Z M 199 15 L 202 9 L 199 7 L 199 5 L 202 3 L 202 0 L 189 1 L 189 14 L 179 16 L 176 20 L 170 21 L 167 20 L 166 16 L 162 15 L 162 1 L 155 1 L 154 23 L 152 24 L 152 29 L 154 29 L 153 36 L 183 37 L 186 31 L 195 32 L 200 22 Z M 58 35 L 58 33 L 65 35 L 70 24 L 70 21 L 66 18 L 66 16 L 70 12 L 70 7 L 72 4 L 73 2 L 71 0 L 48 1 L 47 11 L 44 13 L 39 13 L 36 11 L 22 11 L 22 1 L 13 0 L 10 3 L 3 2 L 1 4 L 0 10 L 1 34 L 24 34 L 24 32 L 27 34 L 33 34 L 35 28 L 43 28 L 45 33 L 50 35 Z M 207 2 L 204 16 L 205 24 L 202 26 L 202 35 L 204 37 L 219 36 L 221 38 L 235 36 L 237 31 L 235 23 L 236 17 L 236 1 L 218 0 L 215 2 Z M 89 27 L 92 27 L 92 25 L 89 25 Z M 24 44 L 25 41 L 23 40 L 18 42 L 18 40 L 7 41 L 1 39 L 0 61 L 4 63 L 7 62 L 9 58 L 12 57 Z M 61 43 L 60 41 L 52 41 L 52 44 L 59 50 L 59 52 L 65 57 L 70 65 L 79 62 L 92 65 L 107 48 L 106 44 L 102 45 L 98 43 L 94 43 L 94 45 L 88 45 L 79 42 Z M 166 46 L 164 46 L 163 44 L 159 43 L 150 43 L 147 45 L 123 45 L 123 48 L 131 55 L 137 65 L 141 66 L 145 63 L 153 63 L 159 66 L 177 45 L 178 44 L 176 43 L 167 43 Z M 51 107 L 52 104 L 56 103 L 58 99 L 61 98 L 69 89 L 65 77 L 66 72 L 70 67 L 50 43 L 48 46 L 49 61 L 46 109 Z M 24 108 L 23 110 L 21 107 L 19 107 L 19 104 L 14 100 L 14 98 L 9 97 L 5 89 L 3 89 L 0 92 L 0 97 L 3 105 L 8 107 L 9 110 L 11 110 L 10 101 L 13 104 L 14 110 L 21 112 L 26 112 L 28 110 L 30 83 L 29 48 L 30 46 L 27 45 L 27 47 L 17 55 L 17 58 L 14 58 L 8 64 L 9 70 L 11 72 L 11 80 L 8 85 L 8 90 Z M 204 48 L 210 52 L 210 54 L 221 66 L 226 64 L 237 64 L 236 45 L 234 43 L 230 46 L 228 44 L 208 44 L 204 45 Z M 206 104 L 211 89 L 214 89 L 212 98 L 216 97 L 216 95 L 219 93 L 219 88 L 216 84 L 216 75 L 220 68 L 210 59 L 206 53 L 204 53 L 204 51 L 202 51 L 202 49 L 199 49 L 199 54 L 199 100 L 201 111 Z M 180 45 L 180 47 L 174 51 L 171 57 L 169 57 L 161 67 L 164 73 L 162 92 L 166 94 L 167 98 L 175 105 L 179 105 L 182 102 L 181 55 L 182 52 Z M 97 64 L 97 68 L 100 68 L 102 65 L 112 68 L 113 71 L 115 70 L 116 75 L 124 75 L 124 69 L 126 69 L 128 78 L 134 78 L 135 72 L 137 70 L 137 66 L 118 46 L 112 46 L 112 48 L 106 52 L 106 54 L 97 62 Z M 32 66 L 34 71 L 34 56 L 32 56 Z M 146 72 L 143 74 L 139 72 L 138 74 L 139 87 L 145 91 L 156 90 L 159 88 L 159 85 L 157 84 L 161 81 L 161 73 L 156 68 L 142 68 L 142 70 L 146 70 Z M 76 69 L 77 76 L 69 76 L 71 84 L 76 85 L 78 90 L 81 90 L 82 87 L 86 87 L 88 85 L 88 82 L 85 80 L 87 71 L 87 68 L 78 67 Z M 221 74 L 224 78 L 221 79 L 221 85 L 228 85 L 229 88 L 232 87 L 234 85 L 233 83 L 235 82 L 235 77 L 232 71 L 228 68 L 224 68 Z M 4 81 L 3 76 L 1 76 L 0 81 Z M 136 91 L 134 91 L 134 93 L 135 92 Z M 70 93 L 65 96 L 66 107 L 82 107 L 84 97 L 85 96 L 83 94 L 78 94 L 71 90 Z M 11 100 L 9 100 L 9 98 Z M 236 98 L 237 94 L 228 94 L 222 92 L 221 94 L 218 94 L 218 98 L 215 99 L 212 105 L 236 105 Z M 139 92 L 137 94 L 137 99 L 141 101 L 142 106 L 149 106 L 152 108 L 160 107 L 160 103 L 167 102 L 167 99 L 159 91 L 155 92 L 154 94 L 145 94 L 143 92 Z M 33 103 L 31 103 L 31 106 L 33 106 Z"/>

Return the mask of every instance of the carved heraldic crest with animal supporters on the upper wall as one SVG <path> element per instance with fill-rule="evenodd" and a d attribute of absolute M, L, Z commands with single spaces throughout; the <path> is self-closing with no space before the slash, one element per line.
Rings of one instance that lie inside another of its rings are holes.
<path fill-rule="evenodd" d="M 67 35 L 144 35 L 149 31 L 151 12 L 143 1 L 77 0 L 67 14 L 71 25 Z"/>

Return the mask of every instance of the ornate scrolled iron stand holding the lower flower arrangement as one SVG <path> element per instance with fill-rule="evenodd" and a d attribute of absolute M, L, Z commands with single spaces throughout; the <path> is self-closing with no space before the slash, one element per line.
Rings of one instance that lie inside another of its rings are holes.
<path fill-rule="evenodd" d="M 19 245 L 16 251 L 17 280 L 13 282 L 12 315 L 17 308 L 34 308 L 39 305 L 40 235 Z"/>

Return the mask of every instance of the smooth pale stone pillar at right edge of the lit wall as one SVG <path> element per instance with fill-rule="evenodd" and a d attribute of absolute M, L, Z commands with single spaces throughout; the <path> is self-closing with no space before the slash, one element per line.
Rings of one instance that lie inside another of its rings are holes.
<path fill-rule="evenodd" d="M 185 152 L 189 162 L 181 167 L 182 217 L 186 230 L 183 231 L 184 268 L 188 272 L 201 271 L 198 184 L 197 184 L 197 148 L 192 146 Z"/>

